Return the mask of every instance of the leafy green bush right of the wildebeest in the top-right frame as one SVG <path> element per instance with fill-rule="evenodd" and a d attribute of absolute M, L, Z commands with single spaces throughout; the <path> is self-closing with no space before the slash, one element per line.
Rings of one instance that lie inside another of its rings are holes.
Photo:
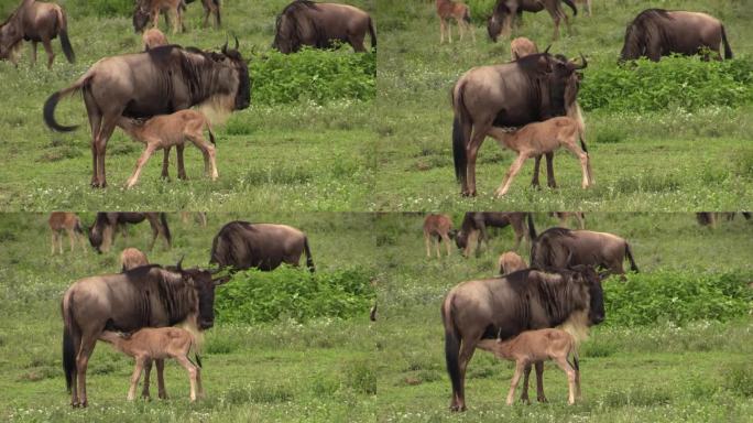
<path fill-rule="evenodd" d="M 578 101 L 585 110 L 654 111 L 683 107 L 738 107 L 753 100 L 753 61 L 697 57 L 642 58 L 586 70 Z"/>

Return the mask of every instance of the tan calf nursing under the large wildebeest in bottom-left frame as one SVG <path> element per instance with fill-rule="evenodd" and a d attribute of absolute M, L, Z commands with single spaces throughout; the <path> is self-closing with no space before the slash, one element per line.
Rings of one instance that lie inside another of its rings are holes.
<path fill-rule="evenodd" d="M 201 358 L 197 352 L 196 338 L 190 332 L 179 327 L 144 327 L 133 334 L 105 330 L 99 339 L 111 344 L 114 349 L 135 359 L 135 367 L 131 376 L 131 387 L 128 389 L 128 400 L 135 399 L 135 389 L 141 379 L 141 372 L 152 360 L 174 358 L 186 371 L 190 381 L 190 401 L 204 397 L 201 389 Z M 188 355 L 194 351 L 194 364 Z"/>

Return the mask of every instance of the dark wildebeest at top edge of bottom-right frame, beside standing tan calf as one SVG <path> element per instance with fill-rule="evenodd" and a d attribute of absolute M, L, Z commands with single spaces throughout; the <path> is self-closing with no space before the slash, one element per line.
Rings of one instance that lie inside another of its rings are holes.
<path fill-rule="evenodd" d="M 473 248 L 473 238 L 477 240 L 477 252 L 481 248 L 481 242 L 487 242 L 487 248 L 489 248 L 488 226 L 504 228 L 508 225 L 512 226 L 515 232 L 514 250 L 517 250 L 524 237 L 528 242 L 531 241 L 525 230 L 525 213 L 468 212 L 462 217 L 460 231 L 455 236 L 455 243 L 463 250 L 463 256 L 468 257 Z"/>

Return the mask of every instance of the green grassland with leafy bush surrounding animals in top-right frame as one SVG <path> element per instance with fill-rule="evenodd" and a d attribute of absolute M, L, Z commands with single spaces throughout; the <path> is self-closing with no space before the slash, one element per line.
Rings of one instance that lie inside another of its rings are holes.
<path fill-rule="evenodd" d="M 558 188 L 535 191 L 525 164 L 504 198 L 494 189 L 515 154 L 487 139 L 477 162 L 478 197 L 463 198 L 455 182 L 449 93 L 473 66 L 510 59 L 510 39 L 492 43 L 485 15 L 493 1 L 469 0 L 476 43 L 439 44 L 433 1 L 381 0 L 384 36 L 378 57 L 380 134 L 378 195 L 371 207 L 401 210 L 583 209 L 605 212 L 745 209 L 753 199 L 753 10 L 744 1 L 594 0 L 593 17 L 571 19 L 552 42 L 548 13 L 524 13 L 516 35 L 588 68 L 579 94 L 596 185 L 580 188 L 580 166 L 567 152 L 555 160 Z M 705 11 L 719 18 L 735 54 L 734 65 L 675 58 L 619 69 L 626 24 L 647 8 Z M 569 8 L 564 7 L 571 17 Z M 734 67 L 735 69 L 731 69 Z M 736 69 L 740 69 L 738 72 Z"/>

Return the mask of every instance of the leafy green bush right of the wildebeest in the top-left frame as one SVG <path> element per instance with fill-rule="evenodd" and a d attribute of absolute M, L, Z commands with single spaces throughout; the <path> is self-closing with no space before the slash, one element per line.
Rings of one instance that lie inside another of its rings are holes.
<path fill-rule="evenodd" d="M 350 45 L 337 51 L 304 48 L 253 57 L 250 63 L 251 101 L 279 105 L 310 100 L 371 100 L 376 94 L 376 55 L 354 54 Z"/>

